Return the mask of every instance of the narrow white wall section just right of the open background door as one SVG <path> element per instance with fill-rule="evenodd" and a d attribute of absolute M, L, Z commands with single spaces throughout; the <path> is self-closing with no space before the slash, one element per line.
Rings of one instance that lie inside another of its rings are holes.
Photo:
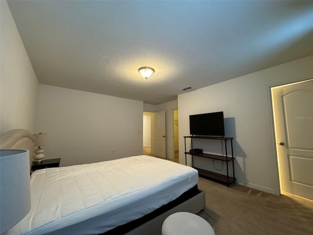
<path fill-rule="evenodd" d="M 164 104 L 156 106 L 156 111 L 165 110 L 166 119 L 166 158 L 173 159 L 173 138 L 174 138 L 174 126 L 173 126 L 173 110 L 178 108 L 178 101 L 170 101 Z"/>

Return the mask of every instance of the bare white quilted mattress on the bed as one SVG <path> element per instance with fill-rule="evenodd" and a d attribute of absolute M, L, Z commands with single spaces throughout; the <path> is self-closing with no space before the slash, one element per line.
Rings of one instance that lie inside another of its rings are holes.
<path fill-rule="evenodd" d="M 150 156 L 36 170 L 31 209 L 5 235 L 92 235 L 148 214 L 198 182 L 192 167 Z"/>

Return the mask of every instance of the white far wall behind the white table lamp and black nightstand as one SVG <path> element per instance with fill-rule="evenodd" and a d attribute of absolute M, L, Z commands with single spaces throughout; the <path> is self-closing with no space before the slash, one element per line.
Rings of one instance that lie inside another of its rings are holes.
<path fill-rule="evenodd" d="M 51 135 L 45 158 L 61 166 L 142 154 L 142 101 L 40 84 L 37 107 L 35 131 Z"/>

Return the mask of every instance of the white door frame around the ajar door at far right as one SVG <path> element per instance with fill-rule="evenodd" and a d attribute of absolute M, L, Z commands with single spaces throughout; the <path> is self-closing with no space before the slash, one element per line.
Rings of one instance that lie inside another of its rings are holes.
<path fill-rule="evenodd" d="M 284 81 L 284 82 L 279 82 L 279 83 L 274 83 L 274 84 L 268 84 L 267 85 L 267 92 L 268 92 L 268 107 L 269 107 L 269 116 L 270 116 L 270 128 L 272 130 L 272 148 L 273 148 L 273 152 L 275 153 L 275 157 L 276 157 L 276 161 L 275 161 L 275 168 L 276 168 L 276 189 L 275 189 L 275 194 L 280 195 L 280 194 L 284 194 L 284 195 L 289 195 L 291 196 L 291 194 L 283 192 L 282 191 L 282 186 L 281 186 L 281 178 L 280 178 L 280 172 L 279 172 L 279 155 L 276 149 L 276 132 L 275 132 L 275 125 L 274 125 L 274 113 L 273 113 L 273 102 L 272 102 L 272 92 L 271 92 L 271 88 L 274 87 L 279 87 L 279 86 L 285 86 L 285 85 L 291 85 L 294 83 L 300 83 L 300 82 L 306 82 L 306 81 L 310 81 L 313 80 L 312 76 L 309 77 L 304 77 L 304 78 L 299 78 L 293 81 Z M 292 195 L 294 197 L 298 197 L 296 195 Z M 305 200 L 309 200 L 306 198 L 302 198 L 302 197 L 298 197 L 301 199 L 305 199 Z"/>

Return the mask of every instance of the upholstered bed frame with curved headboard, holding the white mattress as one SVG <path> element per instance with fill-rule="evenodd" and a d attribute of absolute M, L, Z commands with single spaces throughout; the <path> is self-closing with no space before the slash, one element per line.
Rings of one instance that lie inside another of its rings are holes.
<path fill-rule="evenodd" d="M 1 149 L 22 148 L 29 150 L 29 171 L 33 160 L 34 143 L 35 137 L 24 129 L 11 130 L 1 135 L 0 139 Z M 160 235 L 163 221 L 167 216 L 179 211 L 198 213 L 205 207 L 204 203 L 204 192 L 196 186 L 156 211 L 101 235 Z"/>

